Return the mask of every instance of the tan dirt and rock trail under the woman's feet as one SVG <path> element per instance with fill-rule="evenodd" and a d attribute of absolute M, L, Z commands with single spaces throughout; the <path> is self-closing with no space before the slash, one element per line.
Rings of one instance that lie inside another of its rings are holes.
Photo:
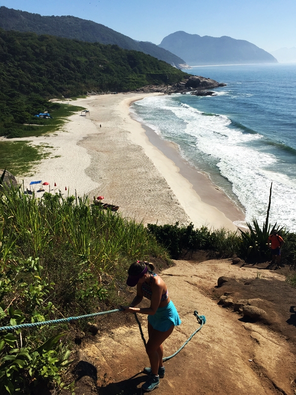
<path fill-rule="evenodd" d="M 173 354 L 199 326 L 194 310 L 205 315 L 207 322 L 185 349 L 165 362 L 165 377 L 153 394 L 294 395 L 294 344 L 266 325 L 243 322 L 241 316 L 212 298 L 220 276 L 252 279 L 258 270 L 231 265 L 229 260 L 175 263 L 162 272 L 162 278 L 182 325 L 164 343 L 165 356 Z M 262 276 L 285 280 L 271 271 L 264 271 Z M 139 318 L 147 338 L 146 317 Z M 127 315 L 127 320 L 133 322 L 135 318 Z M 147 379 L 142 370 L 148 366 L 148 357 L 136 322 L 95 339 L 81 350 L 80 357 L 96 367 L 97 383 L 91 389 L 81 380 L 78 388 L 85 395 L 141 394 L 140 387 Z"/>

